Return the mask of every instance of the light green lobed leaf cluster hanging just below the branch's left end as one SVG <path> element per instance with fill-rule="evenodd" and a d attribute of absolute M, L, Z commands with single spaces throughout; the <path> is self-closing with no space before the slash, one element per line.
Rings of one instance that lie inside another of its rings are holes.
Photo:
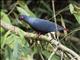
<path fill-rule="evenodd" d="M 10 48 L 13 48 L 15 45 L 15 40 L 18 40 L 19 44 L 23 47 L 25 44 L 24 32 L 19 30 L 19 35 L 8 31 L 1 39 L 1 48 L 7 44 Z"/>

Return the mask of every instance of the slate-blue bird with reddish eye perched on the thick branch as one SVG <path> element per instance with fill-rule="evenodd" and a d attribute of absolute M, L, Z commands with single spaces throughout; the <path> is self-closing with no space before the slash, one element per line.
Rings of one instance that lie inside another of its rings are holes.
<path fill-rule="evenodd" d="M 45 20 L 45 19 L 40 19 L 40 18 L 26 16 L 26 15 L 20 15 L 19 19 L 24 20 L 32 27 L 33 30 L 42 34 L 65 30 L 65 28 L 63 28 L 62 26 L 56 24 L 55 22 L 51 22 L 47 19 Z"/>

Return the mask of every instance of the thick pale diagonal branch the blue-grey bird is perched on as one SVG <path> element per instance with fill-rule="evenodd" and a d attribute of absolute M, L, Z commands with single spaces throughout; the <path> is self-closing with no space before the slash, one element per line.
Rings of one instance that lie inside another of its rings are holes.
<path fill-rule="evenodd" d="M 15 32 L 16 34 L 18 34 L 19 31 L 21 30 L 21 29 L 19 29 L 19 28 L 16 27 L 16 26 L 13 26 L 13 25 L 11 25 L 11 24 L 7 24 L 7 23 L 3 22 L 2 20 L 1 20 L 0 26 L 3 27 L 3 28 L 6 29 L 6 30 L 11 30 L 12 32 Z M 36 38 L 37 38 L 37 34 L 33 34 L 33 33 L 29 33 L 29 32 L 24 32 L 24 31 L 23 31 L 23 33 L 24 33 L 24 37 L 26 37 L 26 38 L 32 38 L 32 39 L 36 39 Z M 51 41 L 50 41 L 50 38 L 48 38 L 47 36 L 44 36 L 44 35 L 40 35 L 39 40 L 49 41 L 49 42 L 51 42 L 53 45 L 59 44 L 59 45 L 58 45 L 59 49 L 70 53 L 70 54 L 71 54 L 73 57 L 75 57 L 77 60 L 80 60 L 80 56 L 79 56 L 77 53 L 75 53 L 73 50 L 67 48 L 66 46 L 62 45 L 61 43 L 59 43 L 59 42 L 56 41 L 56 40 L 51 40 Z"/>

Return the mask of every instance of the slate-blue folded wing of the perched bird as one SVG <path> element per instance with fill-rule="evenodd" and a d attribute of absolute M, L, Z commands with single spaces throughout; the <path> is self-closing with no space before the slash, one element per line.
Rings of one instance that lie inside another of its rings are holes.
<path fill-rule="evenodd" d="M 51 32 L 54 31 L 54 24 L 48 20 L 44 20 L 44 19 L 37 19 L 34 21 L 34 23 L 32 24 L 32 27 L 38 31 L 42 31 L 42 32 Z"/>

